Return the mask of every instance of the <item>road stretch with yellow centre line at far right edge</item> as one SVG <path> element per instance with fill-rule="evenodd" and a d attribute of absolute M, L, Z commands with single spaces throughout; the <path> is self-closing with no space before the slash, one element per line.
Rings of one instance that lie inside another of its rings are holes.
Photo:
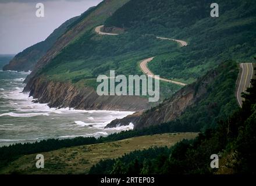
<path fill-rule="evenodd" d="M 243 104 L 243 98 L 241 97 L 241 92 L 245 92 L 248 87 L 251 87 L 251 78 L 253 78 L 253 63 L 240 63 L 240 80 L 238 83 L 236 98 L 239 106 Z"/>

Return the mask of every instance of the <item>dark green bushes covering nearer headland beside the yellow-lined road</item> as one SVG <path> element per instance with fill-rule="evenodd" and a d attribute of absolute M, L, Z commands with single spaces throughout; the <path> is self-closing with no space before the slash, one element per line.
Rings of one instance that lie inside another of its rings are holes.
<path fill-rule="evenodd" d="M 193 105 L 186 108 L 180 117 L 168 124 L 177 126 L 183 131 L 204 131 L 207 128 L 215 128 L 219 120 L 225 120 L 239 108 L 234 95 L 237 74 L 239 74 L 237 63 L 227 60 L 205 76 L 198 78 L 194 84 L 184 87 L 187 90 L 194 90 L 195 96 L 205 93 Z M 163 105 L 170 105 L 172 98 L 166 99 L 166 102 L 147 110 L 145 117 L 150 116 L 151 113 L 154 115 Z"/>

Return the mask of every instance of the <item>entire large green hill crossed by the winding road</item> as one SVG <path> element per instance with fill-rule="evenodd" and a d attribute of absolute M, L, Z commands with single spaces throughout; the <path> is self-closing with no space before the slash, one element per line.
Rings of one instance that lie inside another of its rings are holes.
<path fill-rule="evenodd" d="M 222 1 L 219 3 L 221 16 L 218 18 L 209 16 L 210 4 L 203 0 L 103 1 L 63 34 L 41 58 L 27 78 L 29 81 L 24 91 L 30 91 L 30 95 L 42 103 L 61 100 L 54 106 L 72 106 L 73 102 L 83 105 L 84 109 L 124 110 L 130 108 L 122 106 L 122 101 L 127 102 L 125 96 L 122 99 L 113 97 L 105 102 L 101 102 L 105 98 L 100 98 L 100 102 L 90 106 L 87 103 L 95 97 L 76 96 L 76 92 L 90 87 L 96 94 L 97 76 L 108 75 L 109 70 L 115 70 L 116 75 L 143 74 L 138 63 L 152 56 L 156 56 L 148 63 L 152 73 L 185 84 L 195 82 L 227 59 L 253 59 L 256 53 L 255 1 Z M 121 27 L 119 30 L 123 31 L 119 35 L 98 35 L 94 30 L 102 24 Z M 189 45 L 180 48 L 175 42 L 159 40 L 156 36 L 188 41 Z M 73 94 L 62 91 L 62 98 L 54 88 L 41 91 L 45 85 L 49 87 L 56 83 L 61 87 L 70 84 L 76 90 Z M 172 84 L 165 87 L 165 98 L 181 88 Z M 76 98 L 73 101 L 63 97 Z M 131 102 L 133 108 L 136 108 L 140 98 Z M 143 99 L 141 102 L 144 104 Z M 118 106 L 113 107 L 113 102 Z M 147 103 L 144 109 L 150 106 Z"/>

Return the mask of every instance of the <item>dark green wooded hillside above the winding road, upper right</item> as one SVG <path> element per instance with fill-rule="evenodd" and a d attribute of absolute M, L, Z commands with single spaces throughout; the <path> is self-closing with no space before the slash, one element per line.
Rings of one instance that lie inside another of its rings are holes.
<path fill-rule="evenodd" d="M 253 60 L 256 53 L 256 2 L 221 1 L 219 17 L 210 16 L 211 1 L 131 0 L 106 20 L 106 26 L 189 42 L 169 48 L 149 63 L 162 77 L 191 83 L 219 63 Z M 165 41 L 168 42 L 168 41 Z"/>

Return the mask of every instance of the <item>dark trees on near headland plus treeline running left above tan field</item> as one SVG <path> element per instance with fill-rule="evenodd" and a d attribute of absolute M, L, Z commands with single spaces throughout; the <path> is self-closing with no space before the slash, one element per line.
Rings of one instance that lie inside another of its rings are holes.
<path fill-rule="evenodd" d="M 78 137 L 67 140 L 51 139 L 35 142 L 33 144 L 5 146 L 0 148 L 0 167 L 5 166 L 22 155 L 31 153 L 48 152 L 77 145 L 99 144 L 102 142 L 123 140 L 142 135 L 198 132 L 203 130 L 205 126 L 214 127 L 219 119 L 229 116 L 229 113 L 234 112 L 234 110 L 238 108 L 234 97 L 234 85 L 238 74 L 236 63 L 227 61 L 220 65 L 216 70 L 212 70 L 211 73 L 214 73 L 215 71 L 218 71 L 219 76 L 215 77 L 216 81 L 214 81 L 214 83 L 208 85 L 208 94 L 205 95 L 205 99 L 194 106 L 194 108 L 187 109 L 187 111 L 184 112 L 186 117 L 181 116 L 178 120 L 170 121 L 169 123 L 161 124 L 159 126 L 151 126 L 141 130 L 123 131 L 118 134 L 115 133 L 108 135 L 108 137 L 101 137 L 98 139 L 95 139 L 94 137 Z M 220 81 L 222 83 L 219 83 Z M 201 81 L 197 84 L 200 83 Z M 197 84 L 195 84 L 195 87 Z M 218 94 L 216 94 L 216 92 L 218 92 Z M 215 103 L 215 106 L 211 106 L 211 103 Z M 198 119 L 199 117 L 200 120 Z"/>

